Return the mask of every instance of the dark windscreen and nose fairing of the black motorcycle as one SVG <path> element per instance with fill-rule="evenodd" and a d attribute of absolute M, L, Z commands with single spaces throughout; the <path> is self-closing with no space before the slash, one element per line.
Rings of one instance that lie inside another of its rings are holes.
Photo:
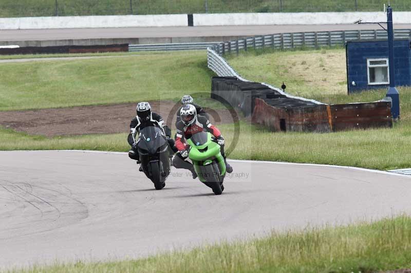
<path fill-rule="evenodd" d="M 140 131 L 140 141 L 138 148 L 147 151 L 149 154 L 155 154 L 157 150 L 167 144 L 163 136 L 163 131 L 154 126 L 148 126 Z"/>

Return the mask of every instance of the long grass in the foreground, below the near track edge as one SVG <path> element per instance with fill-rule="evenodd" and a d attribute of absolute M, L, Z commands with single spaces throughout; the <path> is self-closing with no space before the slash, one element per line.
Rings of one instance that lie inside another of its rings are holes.
<path fill-rule="evenodd" d="M 246 241 L 120 262 L 67 263 L 13 272 L 381 272 L 411 267 L 411 218 L 275 232 Z"/>

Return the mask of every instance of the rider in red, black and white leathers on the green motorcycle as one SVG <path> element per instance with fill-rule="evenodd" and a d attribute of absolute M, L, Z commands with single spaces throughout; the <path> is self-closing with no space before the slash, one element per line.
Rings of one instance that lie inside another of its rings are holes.
<path fill-rule="evenodd" d="M 220 152 L 226 163 L 227 173 L 232 173 L 233 168 L 227 163 L 226 155 L 224 152 L 225 140 L 222 137 L 220 131 L 210 123 L 210 120 L 204 116 L 197 115 L 196 107 L 193 104 L 185 104 L 180 111 L 181 119 L 177 121 L 177 139 L 176 148 L 179 153 L 173 159 L 173 165 L 177 169 L 187 169 L 193 174 L 193 179 L 197 177 L 194 171 L 194 166 L 190 162 L 186 161 L 189 157 L 189 146 L 186 143 L 186 139 L 189 139 L 193 134 L 203 132 L 204 130 L 210 132 L 216 137 L 217 143 L 221 146 Z"/>

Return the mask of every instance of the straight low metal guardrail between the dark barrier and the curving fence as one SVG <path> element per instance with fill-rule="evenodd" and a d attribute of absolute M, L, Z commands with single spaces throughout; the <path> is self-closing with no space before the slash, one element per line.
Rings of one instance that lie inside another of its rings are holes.
<path fill-rule="evenodd" d="M 169 50 L 205 50 L 216 45 L 212 43 L 181 43 L 181 44 L 153 44 L 153 45 L 129 45 L 128 51 L 169 51 Z"/>

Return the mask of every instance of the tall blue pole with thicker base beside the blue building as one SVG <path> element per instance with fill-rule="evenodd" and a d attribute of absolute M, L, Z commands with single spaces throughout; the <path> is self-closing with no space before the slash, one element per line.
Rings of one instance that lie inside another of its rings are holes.
<path fill-rule="evenodd" d="M 391 115 L 394 119 L 400 118 L 400 93 L 395 87 L 395 66 L 394 66 L 394 27 L 393 9 L 390 5 L 387 8 L 387 30 L 388 30 L 388 62 L 389 62 L 389 88 L 387 97 L 391 99 Z"/>

